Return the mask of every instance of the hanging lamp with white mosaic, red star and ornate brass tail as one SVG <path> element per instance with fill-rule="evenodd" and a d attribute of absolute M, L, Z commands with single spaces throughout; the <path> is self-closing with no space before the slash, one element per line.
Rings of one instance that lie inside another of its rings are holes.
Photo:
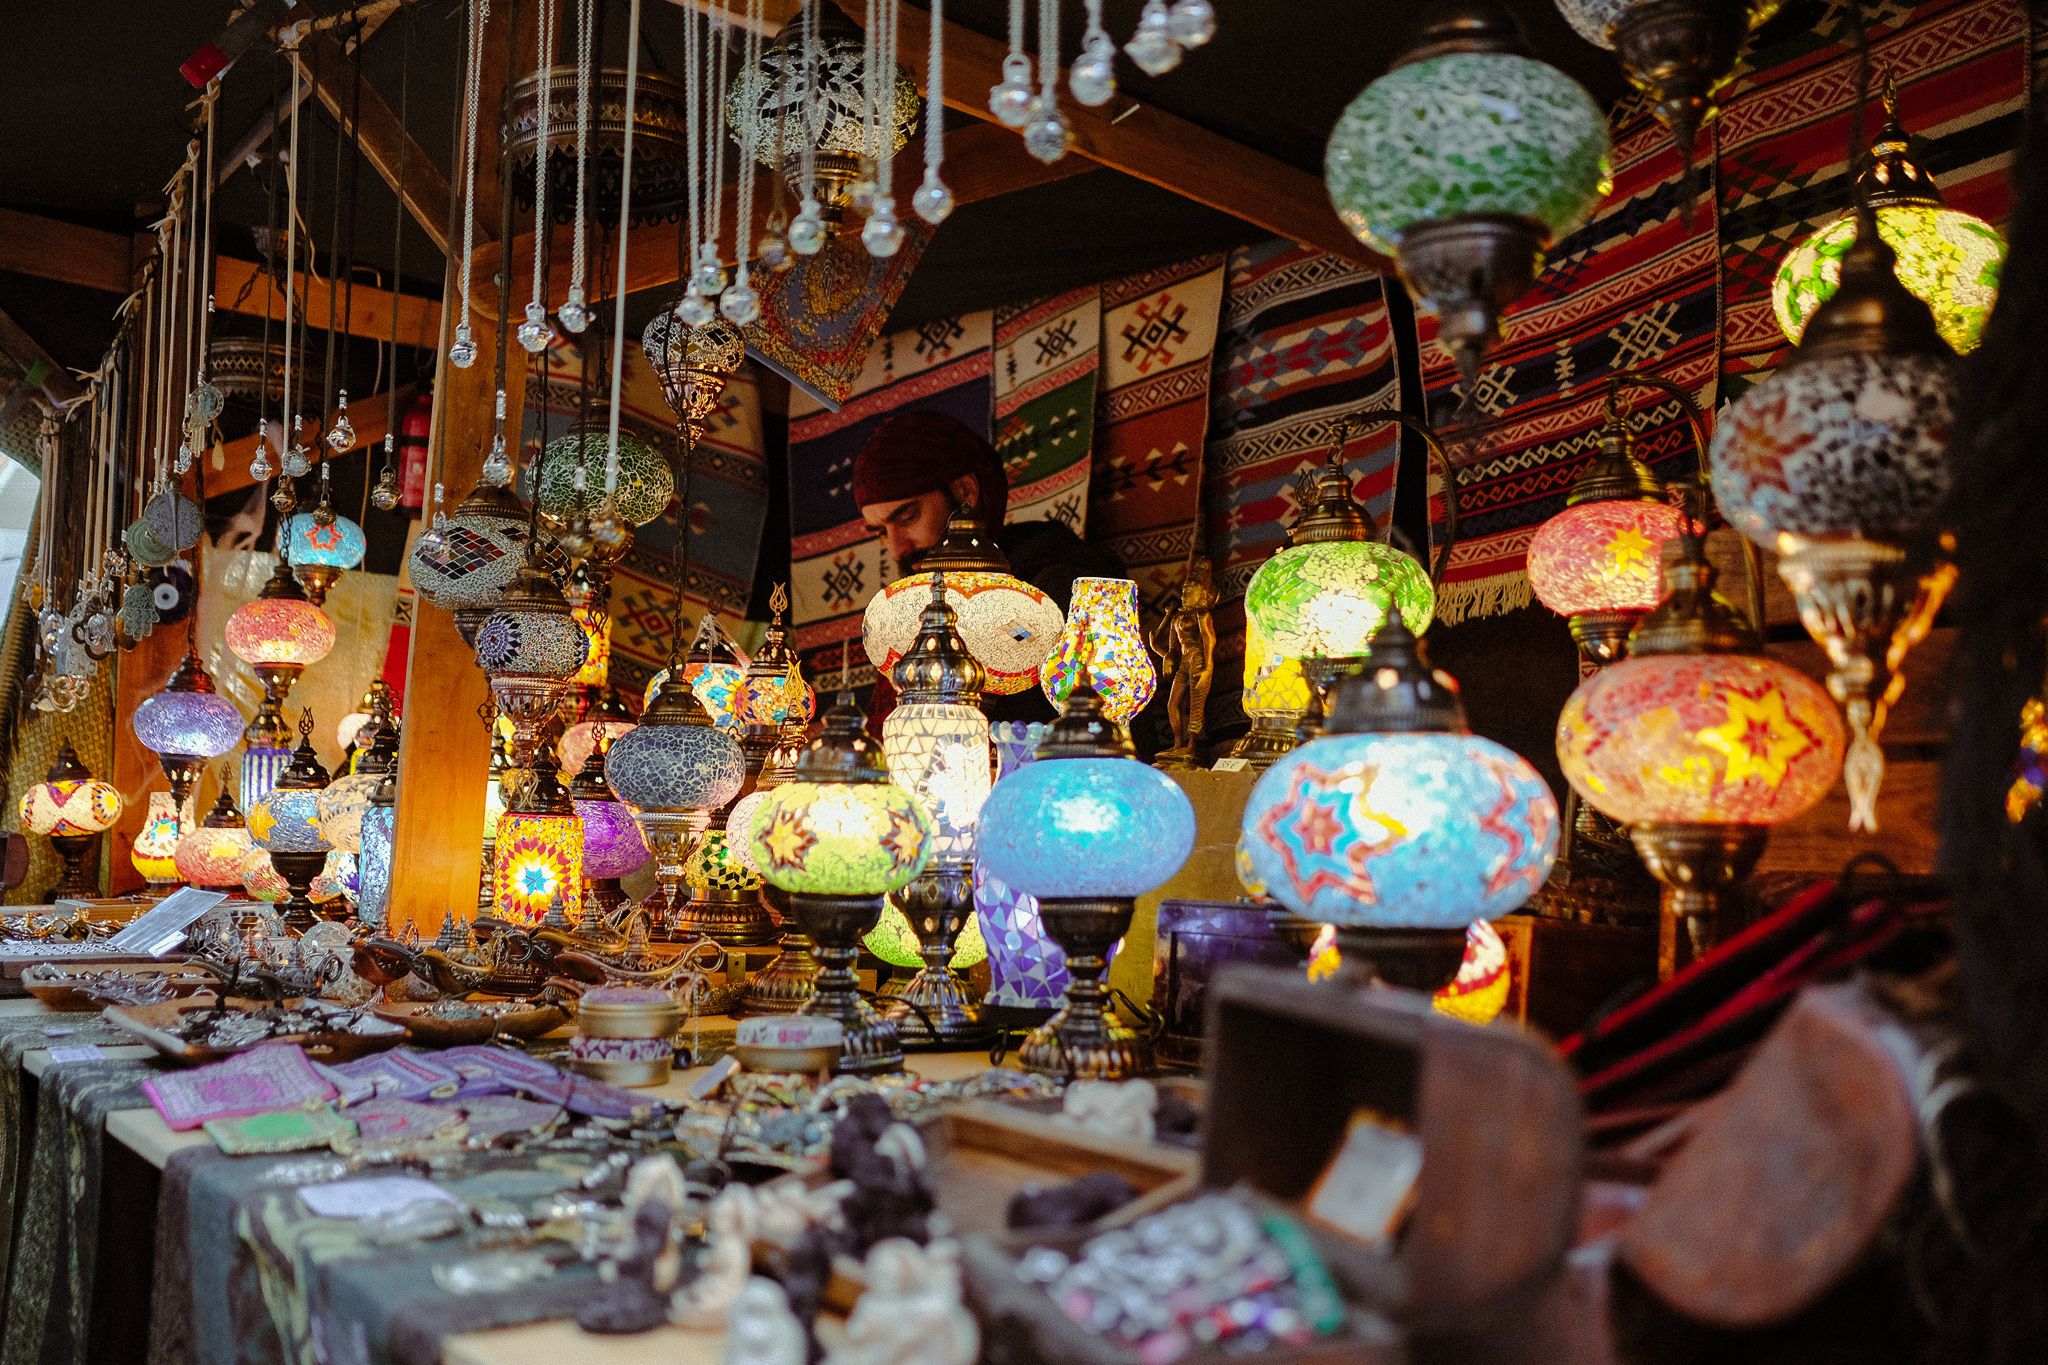
<path fill-rule="evenodd" d="M 1722 413 L 1712 465 L 1722 514 L 1778 553 L 1800 622 L 1827 651 L 1827 690 L 1851 733 L 1849 829 L 1870 831 L 1898 665 L 1956 577 L 1937 516 L 1958 366 L 1868 205 L 1858 219 L 1841 287 L 1798 350 Z"/>

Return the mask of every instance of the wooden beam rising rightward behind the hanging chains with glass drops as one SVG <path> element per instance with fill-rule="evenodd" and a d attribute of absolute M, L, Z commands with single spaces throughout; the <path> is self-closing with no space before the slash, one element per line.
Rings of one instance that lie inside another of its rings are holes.
<path fill-rule="evenodd" d="M 1034 184 L 1049 184 L 1053 180 L 1065 180 L 1067 176 L 1077 176 L 1096 170 L 1092 162 L 1081 162 L 1077 158 L 1063 158 L 1051 166 L 1038 158 L 1024 151 L 1024 143 L 1010 129 L 995 125 L 973 125 L 961 129 L 946 137 L 946 184 L 952 186 L 952 196 L 961 205 L 981 203 L 985 199 L 995 199 L 999 194 L 1010 194 L 1014 190 L 1024 190 Z M 770 172 L 762 170 L 766 180 Z M 909 194 L 918 188 L 924 178 L 924 153 L 920 143 L 913 139 L 909 147 L 895 162 L 895 199 L 901 215 L 909 217 Z M 733 219 L 739 215 L 739 196 L 733 184 L 727 182 L 725 188 L 727 215 L 721 223 L 719 239 L 731 241 Z M 748 241 L 756 241 L 766 227 L 770 213 L 770 190 L 766 182 L 758 184 L 754 194 L 754 223 L 748 229 Z M 795 213 L 795 201 L 791 201 L 788 211 Z M 858 227 L 856 227 L 858 231 Z M 643 289 L 662 289 L 664 284 L 674 284 L 680 276 L 676 270 L 676 246 L 682 233 L 680 223 L 645 223 L 635 225 L 627 233 L 627 293 L 635 295 Z M 573 233 L 569 227 L 555 227 L 553 231 L 553 272 L 549 278 L 553 301 L 559 303 L 561 295 L 569 287 L 569 272 L 563 262 L 569 260 L 569 250 L 573 246 Z M 596 254 L 594 254 L 596 256 Z M 473 274 L 479 280 L 492 280 L 498 276 L 498 262 L 504 252 L 498 244 L 485 244 L 477 248 Z M 616 264 L 610 270 L 598 272 L 592 268 L 592 276 L 586 280 L 584 289 L 592 301 L 610 299 L 616 291 Z M 602 278 L 598 278 L 602 274 Z M 512 299 L 524 301 L 532 297 L 532 233 L 518 233 L 512 239 Z M 494 289 L 479 289 L 473 307 L 483 317 L 498 317 L 498 293 Z"/>

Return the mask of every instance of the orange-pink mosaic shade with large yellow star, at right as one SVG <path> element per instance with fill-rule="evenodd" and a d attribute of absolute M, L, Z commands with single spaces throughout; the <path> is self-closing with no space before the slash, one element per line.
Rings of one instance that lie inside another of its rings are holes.
<path fill-rule="evenodd" d="M 1579 684 L 1556 722 L 1565 778 L 1622 825 L 1784 825 L 1841 774 L 1841 710 L 1757 655 L 1647 655 Z"/>

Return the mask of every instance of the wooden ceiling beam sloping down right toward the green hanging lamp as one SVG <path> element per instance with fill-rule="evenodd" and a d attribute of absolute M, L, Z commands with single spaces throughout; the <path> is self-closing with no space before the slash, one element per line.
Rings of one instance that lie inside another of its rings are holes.
<path fill-rule="evenodd" d="M 860 23 L 860 6 L 854 0 L 831 0 L 831 4 Z M 901 25 L 897 61 L 924 88 L 932 16 L 905 4 Z M 1004 78 L 1008 49 L 950 20 L 944 27 L 944 43 L 946 108 L 993 123 L 987 94 Z M 1071 156 L 1157 184 L 1290 241 L 1321 248 L 1374 270 L 1393 270 L 1391 260 L 1346 231 L 1337 211 L 1329 207 L 1323 182 L 1305 170 L 1122 94 L 1102 108 L 1069 100 L 1063 111 L 1073 127 Z"/>

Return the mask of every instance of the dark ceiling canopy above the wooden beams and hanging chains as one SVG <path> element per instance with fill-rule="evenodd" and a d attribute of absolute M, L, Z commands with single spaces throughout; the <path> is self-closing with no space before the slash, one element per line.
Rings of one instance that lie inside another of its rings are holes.
<path fill-rule="evenodd" d="M 301 8 L 309 0 L 301 0 Z M 623 59 L 625 4 L 604 0 L 606 47 Z M 12 135 L 0 139 L 0 205 L 92 227 L 131 231 L 150 221 L 162 186 L 184 151 L 193 90 L 182 61 L 223 25 L 231 6 L 160 0 L 125 4 L 16 6 L 8 25 Z M 311 0 L 338 10 L 338 0 Z M 500 14 L 508 8 L 500 0 Z M 1106 0 L 1114 35 L 1137 25 L 1141 0 Z M 1511 0 L 1534 47 L 1577 76 L 1602 102 L 1620 94 L 1612 59 L 1571 35 L 1550 0 Z M 1065 45 L 1079 37 L 1079 6 L 1065 10 Z M 1346 102 L 1405 41 L 1405 25 L 1358 0 L 1223 0 L 1217 41 L 1180 70 L 1147 78 L 1118 63 L 1122 88 L 1167 113 L 1317 172 L 1323 141 Z M 987 35 L 1006 31 L 1006 0 L 954 0 L 948 18 Z M 1405 18 L 1405 14 L 1403 14 Z M 420 145 L 449 164 L 461 88 L 463 8 L 457 0 L 416 0 L 365 45 L 362 78 L 389 104 L 410 68 L 408 125 Z M 680 65 L 678 10 L 647 0 L 643 61 Z M 258 123 L 289 72 L 260 49 L 225 76 L 219 145 L 225 151 Z M 334 246 L 334 123 L 307 104 L 301 125 L 305 217 L 322 250 Z M 272 166 L 238 170 L 217 201 L 221 246 L 254 256 L 252 227 L 266 221 Z M 346 182 L 344 182 L 346 186 Z M 342 196 L 346 201 L 346 194 Z M 354 258 L 358 278 L 387 278 L 395 201 L 369 170 L 356 186 Z M 492 217 L 485 215 L 485 231 Z M 899 305 L 901 321 L 987 307 L 1194 252 L 1257 237 L 1257 229 L 1116 172 L 1090 172 L 958 211 L 936 235 Z M 438 293 L 440 256 L 403 225 L 403 274 L 418 293 Z M 0 274 L 0 309 L 57 360 L 92 364 L 113 334 L 119 299 L 94 291 Z M 367 350 L 367 348 L 365 348 Z M 360 377 L 356 383 L 365 383 Z"/>

